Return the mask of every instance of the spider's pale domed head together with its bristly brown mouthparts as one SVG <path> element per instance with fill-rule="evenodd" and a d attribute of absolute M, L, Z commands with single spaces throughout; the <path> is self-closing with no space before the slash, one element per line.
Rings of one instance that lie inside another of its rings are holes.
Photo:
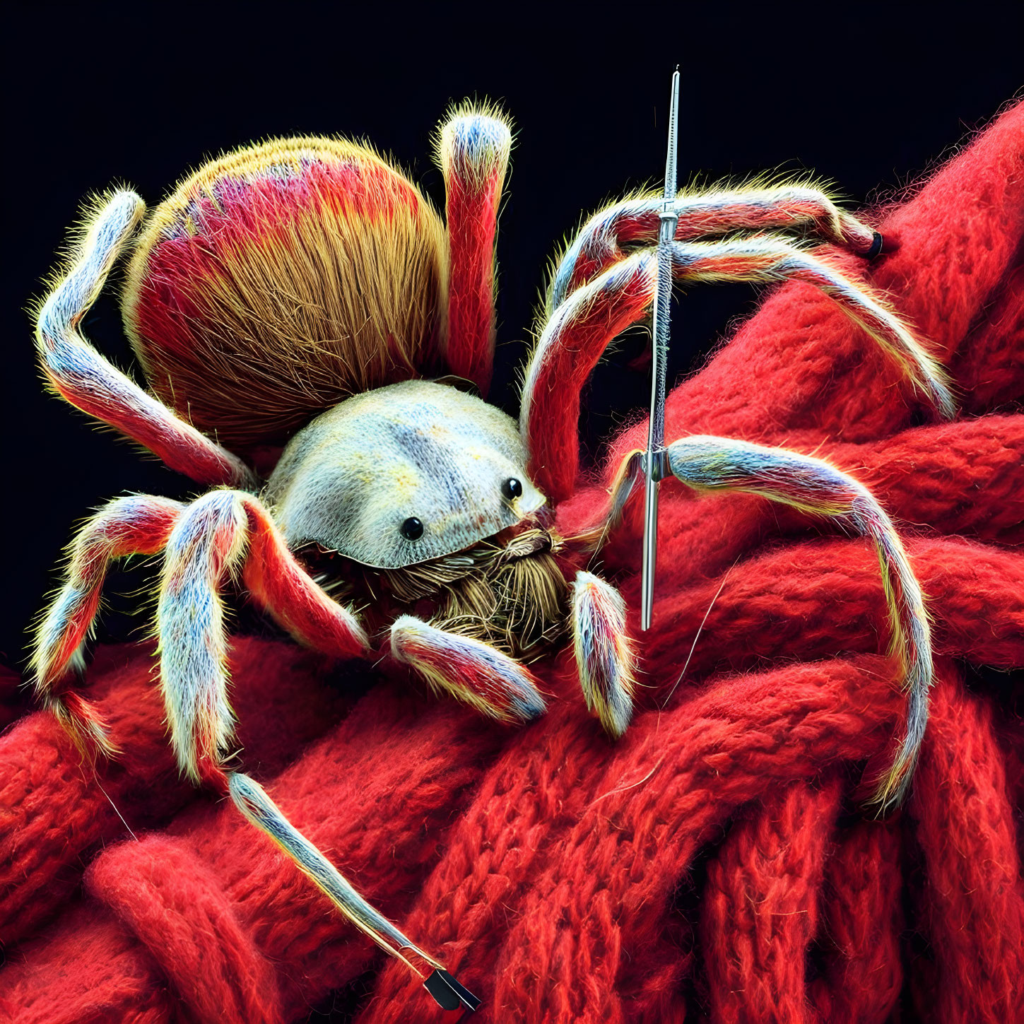
<path fill-rule="evenodd" d="M 472 394 L 407 381 L 342 401 L 285 449 L 264 500 L 371 628 L 415 612 L 527 659 L 563 632 L 562 542 L 515 421 Z"/>

